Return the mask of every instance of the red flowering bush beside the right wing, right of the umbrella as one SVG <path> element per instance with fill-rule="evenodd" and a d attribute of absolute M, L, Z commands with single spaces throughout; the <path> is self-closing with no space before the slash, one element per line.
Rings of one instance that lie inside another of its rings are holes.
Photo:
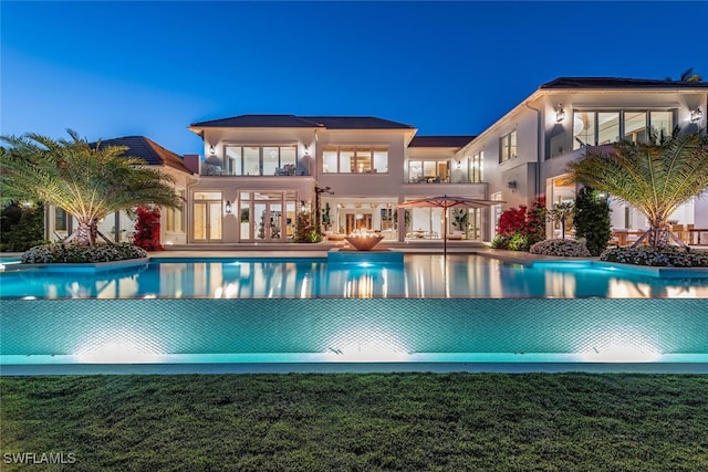
<path fill-rule="evenodd" d="M 525 204 L 510 208 L 499 217 L 497 237 L 492 248 L 511 251 L 528 251 L 532 244 L 545 239 L 545 198 L 533 202 L 531 210 Z"/>

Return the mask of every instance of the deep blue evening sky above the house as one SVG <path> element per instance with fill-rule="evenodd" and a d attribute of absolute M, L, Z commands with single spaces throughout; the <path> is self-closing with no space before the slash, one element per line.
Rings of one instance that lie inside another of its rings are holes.
<path fill-rule="evenodd" d="M 708 80 L 708 2 L 6 1 L 0 134 L 144 135 L 190 123 L 377 116 L 475 135 L 559 76 Z"/>

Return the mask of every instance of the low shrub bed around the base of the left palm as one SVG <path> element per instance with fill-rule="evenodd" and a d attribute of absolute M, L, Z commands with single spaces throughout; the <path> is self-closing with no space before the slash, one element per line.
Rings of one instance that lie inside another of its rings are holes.
<path fill-rule="evenodd" d="M 128 243 L 97 243 L 96 245 L 84 245 L 79 243 L 52 243 L 38 245 L 25 251 L 21 261 L 25 264 L 40 263 L 91 263 L 125 261 L 129 259 L 147 258 L 147 252 L 136 245 Z"/>

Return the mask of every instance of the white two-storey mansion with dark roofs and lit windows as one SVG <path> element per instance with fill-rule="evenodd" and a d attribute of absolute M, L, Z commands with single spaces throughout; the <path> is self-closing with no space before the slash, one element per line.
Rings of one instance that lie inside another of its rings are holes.
<path fill-rule="evenodd" d="M 568 164 L 589 146 L 641 141 L 652 128 L 705 133 L 707 101 L 708 82 L 561 77 L 477 136 L 419 136 L 412 125 L 376 117 L 241 115 L 188 126 L 202 138 L 204 157 L 143 137 L 105 143 L 126 145 L 176 178 L 185 203 L 163 213 L 164 244 L 287 242 L 298 213 L 316 208 L 331 239 L 366 230 L 391 241 L 435 241 L 445 233 L 441 209 L 397 206 L 442 195 L 499 200 L 448 210 L 447 233 L 490 241 L 503 209 L 539 197 L 549 207 L 574 199 Z M 646 227 L 632 208 L 611 206 L 613 228 Z M 686 203 L 673 219 L 708 228 L 708 199 Z M 70 220 L 53 211 L 49 237 L 65 234 Z M 132 223 L 117 216 L 101 230 L 129 234 Z"/>

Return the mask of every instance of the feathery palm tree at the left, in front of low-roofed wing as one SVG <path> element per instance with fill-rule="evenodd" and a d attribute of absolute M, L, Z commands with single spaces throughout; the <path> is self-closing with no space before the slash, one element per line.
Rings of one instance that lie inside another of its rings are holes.
<path fill-rule="evenodd" d="M 178 208 L 171 177 L 125 156 L 125 146 L 90 145 L 69 129 L 71 139 L 53 140 L 28 133 L 2 136 L 0 204 L 35 200 L 62 208 L 77 222 L 73 237 L 94 245 L 98 220 L 138 206 Z"/>

